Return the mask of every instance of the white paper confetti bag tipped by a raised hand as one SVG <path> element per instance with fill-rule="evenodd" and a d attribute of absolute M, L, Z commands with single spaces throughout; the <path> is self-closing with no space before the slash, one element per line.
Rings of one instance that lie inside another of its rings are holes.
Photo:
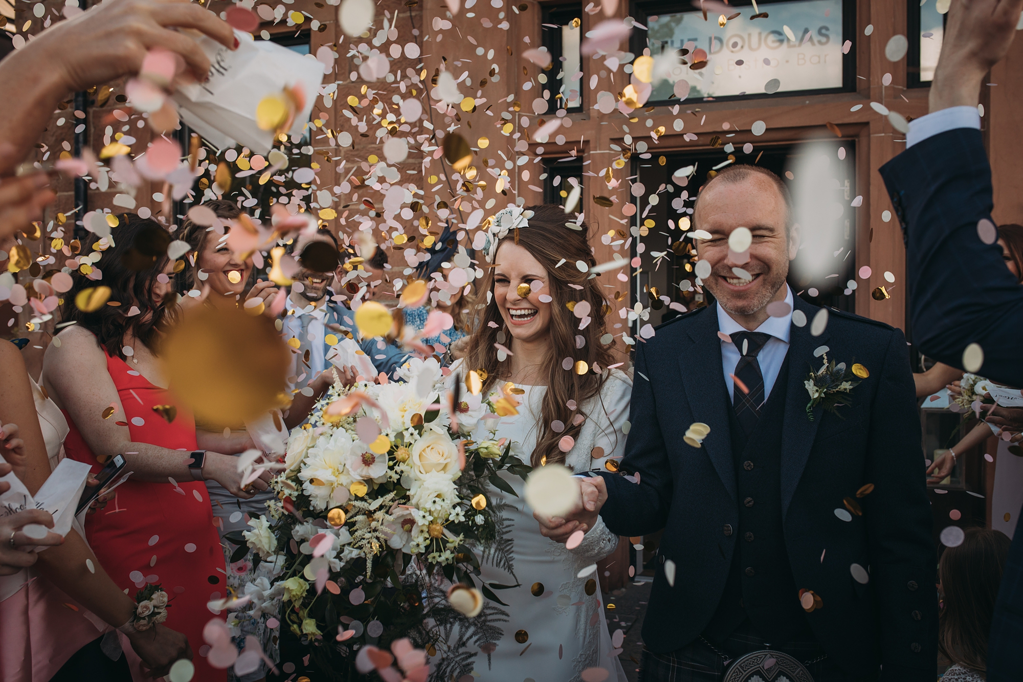
<path fill-rule="evenodd" d="M 301 134 L 323 81 L 323 65 L 268 40 L 254 41 L 240 31 L 234 35 L 240 42 L 236 50 L 207 36 L 196 39 L 210 57 L 210 80 L 178 87 L 174 100 L 181 119 L 215 146 L 243 144 L 265 155 L 273 146 L 274 130 L 258 125 L 260 102 L 285 88 L 301 94 L 302 108 L 286 131 Z"/>

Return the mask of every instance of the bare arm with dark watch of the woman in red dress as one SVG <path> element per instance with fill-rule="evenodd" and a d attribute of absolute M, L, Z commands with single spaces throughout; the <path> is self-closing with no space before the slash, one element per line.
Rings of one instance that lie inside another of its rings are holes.
<path fill-rule="evenodd" d="M 114 417 L 103 419 L 103 411 L 113 406 L 115 415 L 124 415 L 117 386 L 106 371 L 106 358 L 95 338 L 83 329 L 71 327 L 57 337 L 60 345 L 50 344 L 43 358 L 42 380 L 57 407 L 68 412 L 94 455 L 122 455 L 132 477 L 149 482 L 191 480 L 188 463 L 191 455 L 145 442 L 134 442 L 127 426 L 119 426 Z M 248 500 L 252 494 L 241 489 L 237 459 L 208 452 L 204 477 L 216 480 L 232 495 Z M 264 480 L 253 483 L 256 489 L 267 488 Z"/>

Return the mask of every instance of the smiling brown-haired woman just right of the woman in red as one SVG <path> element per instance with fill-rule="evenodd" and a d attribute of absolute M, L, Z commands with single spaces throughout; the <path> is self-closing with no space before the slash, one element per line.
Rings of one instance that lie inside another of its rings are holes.
<path fill-rule="evenodd" d="M 185 258 L 185 267 L 178 275 L 179 292 L 203 289 L 206 291 L 204 303 L 214 307 L 233 308 L 259 298 L 265 307 L 264 313 L 270 314 L 270 305 L 277 296 L 276 285 L 269 280 L 254 282 L 252 256 L 238 260 L 227 245 L 231 229 L 241 229 L 232 224 L 241 215 L 241 210 L 232 202 L 224 200 L 209 201 L 203 206 L 214 212 L 222 226 L 207 227 L 190 218 L 182 222 L 181 239 L 191 249 Z M 242 423 L 204 423 L 196 420 L 195 429 L 196 434 L 202 434 L 208 444 L 224 455 L 240 455 L 257 446 L 247 425 Z M 265 515 L 266 503 L 274 499 L 274 493 L 267 489 L 254 494 L 248 500 L 241 500 L 216 480 L 207 480 L 206 487 L 220 532 L 227 587 L 235 594 L 243 594 L 244 586 L 258 577 L 258 568 L 254 566 L 251 552 L 238 549 L 243 544 L 237 544 L 227 536 L 234 534 L 233 537 L 236 538 L 238 531 L 249 529 L 249 518 Z M 255 636 L 267 657 L 276 660 L 274 631 L 266 625 L 269 616 L 254 619 L 249 613 L 251 610 L 252 605 L 247 604 L 239 609 L 232 609 L 228 615 L 235 646 L 241 651 L 247 637 Z M 238 676 L 233 670 L 229 670 L 227 677 L 229 681 L 255 682 L 265 677 L 266 672 L 266 663 L 261 660 L 252 673 Z"/>

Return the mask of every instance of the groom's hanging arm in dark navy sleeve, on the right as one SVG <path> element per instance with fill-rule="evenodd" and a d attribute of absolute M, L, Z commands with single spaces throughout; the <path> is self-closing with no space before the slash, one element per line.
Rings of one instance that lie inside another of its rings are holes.
<path fill-rule="evenodd" d="M 882 682 L 933 680 L 937 556 L 905 337 L 892 332 L 874 397 L 861 500 L 881 636 Z"/>

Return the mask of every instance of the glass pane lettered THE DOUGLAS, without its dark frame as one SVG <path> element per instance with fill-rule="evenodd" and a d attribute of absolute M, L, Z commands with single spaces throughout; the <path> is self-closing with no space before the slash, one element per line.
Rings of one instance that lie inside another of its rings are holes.
<path fill-rule="evenodd" d="M 704 20 L 699 10 L 650 16 L 652 56 L 687 44 L 691 50 L 683 57 L 690 65 L 674 67 L 669 80 L 655 84 L 650 100 L 669 99 L 672 79 L 690 83 L 690 98 L 762 94 L 773 79 L 779 92 L 842 87 L 842 2 L 764 3 L 759 8 L 768 16 L 755 19 L 752 7 L 742 7 L 724 27 L 712 12 Z M 694 70 L 696 49 L 706 51 L 707 61 Z"/>

